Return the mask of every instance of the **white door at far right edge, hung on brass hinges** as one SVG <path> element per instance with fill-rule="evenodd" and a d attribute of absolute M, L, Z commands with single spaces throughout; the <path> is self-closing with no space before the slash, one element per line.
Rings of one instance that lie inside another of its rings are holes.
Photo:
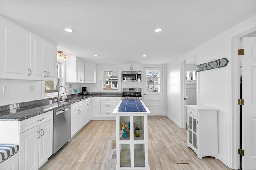
<path fill-rule="evenodd" d="M 256 38 L 243 37 L 242 57 L 242 169 L 256 167 Z"/>

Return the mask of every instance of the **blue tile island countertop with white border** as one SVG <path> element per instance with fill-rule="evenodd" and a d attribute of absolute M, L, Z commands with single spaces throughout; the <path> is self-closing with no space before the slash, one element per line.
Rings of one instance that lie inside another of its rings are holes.
<path fill-rule="evenodd" d="M 148 115 L 150 111 L 142 100 L 121 100 L 113 111 L 113 114 L 140 114 Z"/>

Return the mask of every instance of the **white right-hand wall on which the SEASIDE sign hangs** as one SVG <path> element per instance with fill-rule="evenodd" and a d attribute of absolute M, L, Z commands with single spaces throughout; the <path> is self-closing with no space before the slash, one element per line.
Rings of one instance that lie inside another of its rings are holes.
<path fill-rule="evenodd" d="M 219 159 L 231 167 L 231 61 L 232 61 L 232 41 L 231 35 L 250 29 L 256 25 L 256 16 L 236 25 L 214 39 L 206 42 L 200 47 L 180 56 L 175 61 L 168 64 L 168 95 L 167 114 L 177 125 L 181 124 L 182 107 L 180 96 L 180 66 L 181 61 L 193 53 L 198 53 L 198 64 L 227 58 L 230 63 L 226 67 L 198 72 L 198 104 L 211 106 L 218 111 L 218 156 Z M 178 88 L 174 88 L 178 84 Z"/>

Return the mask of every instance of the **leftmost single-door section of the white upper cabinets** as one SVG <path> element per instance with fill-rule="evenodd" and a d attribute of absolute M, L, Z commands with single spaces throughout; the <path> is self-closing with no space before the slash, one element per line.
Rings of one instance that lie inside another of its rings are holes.
<path fill-rule="evenodd" d="M 0 78 L 30 79 L 30 32 L 0 18 Z"/>

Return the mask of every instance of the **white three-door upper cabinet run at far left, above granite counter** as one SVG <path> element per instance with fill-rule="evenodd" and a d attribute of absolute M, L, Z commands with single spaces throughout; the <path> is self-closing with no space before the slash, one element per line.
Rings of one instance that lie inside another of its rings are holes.
<path fill-rule="evenodd" d="M 0 18 L 0 78 L 54 80 L 57 47 Z"/>

